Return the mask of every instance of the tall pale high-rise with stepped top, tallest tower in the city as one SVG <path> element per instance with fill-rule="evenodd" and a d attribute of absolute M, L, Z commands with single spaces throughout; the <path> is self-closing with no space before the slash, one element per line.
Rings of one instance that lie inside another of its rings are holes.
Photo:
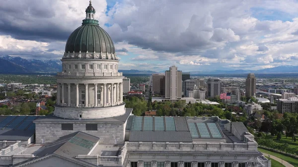
<path fill-rule="evenodd" d="M 165 98 L 181 99 L 182 89 L 182 71 L 178 71 L 177 67 L 172 65 L 168 71 L 165 71 Z"/>

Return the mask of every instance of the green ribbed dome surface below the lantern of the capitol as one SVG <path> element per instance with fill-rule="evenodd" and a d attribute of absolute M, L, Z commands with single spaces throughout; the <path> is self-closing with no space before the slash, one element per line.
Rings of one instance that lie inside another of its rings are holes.
<path fill-rule="evenodd" d="M 65 52 L 115 54 L 114 43 L 106 31 L 96 24 L 83 24 L 70 35 Z"/>

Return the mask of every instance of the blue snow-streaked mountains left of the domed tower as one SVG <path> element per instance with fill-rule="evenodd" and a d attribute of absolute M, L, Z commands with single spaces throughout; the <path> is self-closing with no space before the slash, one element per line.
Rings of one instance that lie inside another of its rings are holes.
<path fill-rule="evenodd" d="M 0 73 L 53 73 L 61 70 L 60 60 L 25 59 L 0 55 Z"/>

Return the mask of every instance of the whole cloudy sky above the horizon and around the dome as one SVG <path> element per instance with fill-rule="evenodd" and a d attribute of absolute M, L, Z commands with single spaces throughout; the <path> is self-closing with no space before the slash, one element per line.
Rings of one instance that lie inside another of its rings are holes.
<path fill-rule="evenodd" d="M 1 0 L 0 55 L 61 59 L 89 0 Z M 297 0 L 92 0 L 119 69 L 298 65 Z"/>

